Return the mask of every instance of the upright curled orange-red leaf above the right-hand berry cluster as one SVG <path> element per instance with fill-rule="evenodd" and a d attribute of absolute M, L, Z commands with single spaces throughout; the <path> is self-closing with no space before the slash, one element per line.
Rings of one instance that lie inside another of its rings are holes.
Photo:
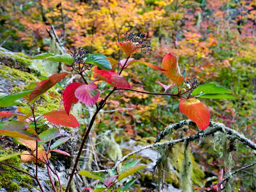
<path fill-rule="evenodd" d="M 165 55 L 162 62 L 162 68 L 166 70 L 163 71 L 163 73 L 175 84 L 179 86 L 183 83 L 184 78 L 180 73 L 177 56 L 172 55 L 172 53 Z"/>

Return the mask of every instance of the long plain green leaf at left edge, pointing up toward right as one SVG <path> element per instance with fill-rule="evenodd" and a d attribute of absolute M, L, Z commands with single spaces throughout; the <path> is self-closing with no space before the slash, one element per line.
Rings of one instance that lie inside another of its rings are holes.
<path fill-rule="evenodd" d="M 11 95 L 3 96 L 2 98 L 0 98 L 0 108 L 15 105 L 17 103 L 17 99 L 20 99 L 21 97 L 26 96 L 33 91 L 34 90 L 25 90 L 17 93 L 12 93 Z"/>

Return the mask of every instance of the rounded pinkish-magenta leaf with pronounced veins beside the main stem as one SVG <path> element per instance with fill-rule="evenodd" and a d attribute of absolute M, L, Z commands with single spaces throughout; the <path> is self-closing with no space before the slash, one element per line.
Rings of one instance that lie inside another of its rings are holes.
<path fill-rule="evenodd" d="M 93 106 L 99 98 L 99 90 L 94 83 L 84 84 L 78 87 L 75 91 L 75 96 L 80 102 L 87 106 Z"/>

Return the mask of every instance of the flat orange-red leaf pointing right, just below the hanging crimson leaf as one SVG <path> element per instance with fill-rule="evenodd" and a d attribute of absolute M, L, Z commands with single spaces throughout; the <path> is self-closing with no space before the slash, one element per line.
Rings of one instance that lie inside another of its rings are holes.
<path fill-rule="evenodd" d="M 44 117 L 51 123 L 73 128 L 79 127 L 79 122 L 76 120 L 76 117 L 72 114 L 68 116 L 65 111 L 51 111 L 45 114 Z"/>

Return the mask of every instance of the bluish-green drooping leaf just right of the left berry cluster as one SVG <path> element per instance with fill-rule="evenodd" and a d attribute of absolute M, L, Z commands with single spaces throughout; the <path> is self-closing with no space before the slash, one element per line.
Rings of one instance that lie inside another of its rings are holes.
<path fill-rule="evenodd" d="M 93 64 L 101 68 L 102 70 L 109 71 L 112 69 L 110 61 L 106 59 L 104 55 L 94 55 L 88 57 L 85 63 Z"/>

